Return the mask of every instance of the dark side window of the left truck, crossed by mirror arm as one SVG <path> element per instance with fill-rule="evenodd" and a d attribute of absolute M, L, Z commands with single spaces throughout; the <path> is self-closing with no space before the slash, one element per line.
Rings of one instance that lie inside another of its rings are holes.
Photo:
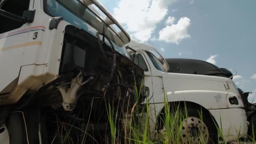
<path fill-rule="evenodd" d="M 22 17 L 23 12 L 29 10 L 29 0 L 3 0 L 0 4 L 0 9 Z M 21 22 L 5 16 L 0 16 L 0 20 L 0 34 L 18 29 L 23 25 Z"/>

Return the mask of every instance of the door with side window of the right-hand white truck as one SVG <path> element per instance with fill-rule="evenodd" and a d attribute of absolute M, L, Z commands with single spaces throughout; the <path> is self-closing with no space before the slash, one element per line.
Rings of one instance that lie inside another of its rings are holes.
<path fill-rule="evenodd" d="M 153 94 L 154 94 L 154 90 L 153 90 L 153 84 L 152 84 L 152 73 L 151 73 L 151 68 L 148 64 L 148 62 L 146 62 L 147 59 L 145 58 L 143 53 L 136 53 L 136 59 L 135 59 L 135 63 L 141 67 L 141 69 L 144 70 L 144 86 L 148 88 L 149 90 L 149 96 L 148 98 L 152 98 Z"/>

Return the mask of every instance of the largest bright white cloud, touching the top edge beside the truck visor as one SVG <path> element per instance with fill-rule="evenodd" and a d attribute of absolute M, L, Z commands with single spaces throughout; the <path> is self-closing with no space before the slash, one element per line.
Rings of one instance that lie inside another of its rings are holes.
<path fill-rule="evenodd" d="M 168 14 L 168 6 L 173 2 L 176 0 L 120 0 L 114 15 L 132 37 L 145 42 Z"/>

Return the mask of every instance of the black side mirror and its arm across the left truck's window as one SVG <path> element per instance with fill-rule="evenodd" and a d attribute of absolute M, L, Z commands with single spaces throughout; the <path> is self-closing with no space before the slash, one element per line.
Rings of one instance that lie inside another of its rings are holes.
<path fill-rule="evenodd" d="M 2 9 L 0 9 L 0 16 L 5 16 L 8 17 L 10 19 L 13 19 L 15 21 L 19 21 L 23 24 L 26 24 L 27 22 L 31 23 L 34 21 L 35 18 L 35 10 L 34 11 L 24 11 L 23 13 L 23 17 L 17 16 L 13 13 L 9 13 L 7 11 L 4 11 Z"/>

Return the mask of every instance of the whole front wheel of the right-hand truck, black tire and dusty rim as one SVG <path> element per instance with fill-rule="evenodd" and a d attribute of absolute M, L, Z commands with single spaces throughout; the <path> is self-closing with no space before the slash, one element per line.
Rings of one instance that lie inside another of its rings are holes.
<path fill-rule="evenodd" d="M 177 127 L 181 127 L 181 141 L 183 144 L 217 144 L 218 143 L 218 133 L 213 123 L 211 116 L 207 112 L 202 112 L 203 120 L 200 118 L 200 110 L 197 108 L 187 107 L 187 112 L 185 108 L 181 108 L 181 122 L 177 121 L 174 123 L 179 123 Z M 186 115 L 187 113 L 187 115 Z M 163 126 L 161 126 L 160 133 L 165 132 L 165 125 L 162 121 Z M 179 129 L 179 128 L 177 128 Z M 179 131 L 179 130 L 175 130 Z"/>

